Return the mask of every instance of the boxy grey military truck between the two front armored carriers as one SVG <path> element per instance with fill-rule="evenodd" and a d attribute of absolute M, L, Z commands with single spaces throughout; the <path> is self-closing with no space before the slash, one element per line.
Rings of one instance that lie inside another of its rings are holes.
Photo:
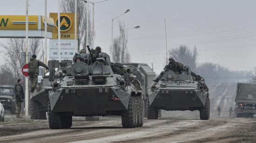
<path fill-rule="evenodd" d="M 125 69 L 132 69 L 133 74 L 141 82 L 142 85 L 142 98 L 143 98 L 143 115 L 147 115 L 147 99 L 148 99 L 148 89 L 150 89 L 153 79 L 156 74 L 151 69 L 148 64 L 145 63 L 125 63 Z"/>

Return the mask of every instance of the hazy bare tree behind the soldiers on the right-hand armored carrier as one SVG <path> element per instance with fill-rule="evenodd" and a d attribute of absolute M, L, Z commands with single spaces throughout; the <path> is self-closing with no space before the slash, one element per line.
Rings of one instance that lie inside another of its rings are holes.
<path fill-rule="evenodd" d="M 192 71 L 195 70 L 196 58 L 198 55 L 196 47 L 194 47 L 192 51 L 186 45 L 180 45 L 175 49 L 169 50 L 168 52 L 170 57 L 173 57 L 175 60 L 181 62 L 184 65 L 189 65 Z"/>

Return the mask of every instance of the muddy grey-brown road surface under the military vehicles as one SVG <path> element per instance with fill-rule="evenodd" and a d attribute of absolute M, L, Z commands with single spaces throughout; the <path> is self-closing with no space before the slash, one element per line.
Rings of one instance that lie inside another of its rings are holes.
<path fill-rule="evenodd" d="M 26 143 L 204 143 L 256 142 L 256 118 L 144 119 L 141 128 L 123 129 L 120 117 L 85 121 L 73 117 L 71 129 L 50 130 L 47 120 L 0 122 L 0 142 Z"/>

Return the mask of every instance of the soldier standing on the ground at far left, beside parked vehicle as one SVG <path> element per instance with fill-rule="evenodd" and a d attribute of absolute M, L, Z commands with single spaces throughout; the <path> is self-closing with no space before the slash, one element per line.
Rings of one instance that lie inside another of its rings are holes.
<path fill-rule="evenodd" d="M 20 117 L 20 108 L 21 108 L 21 102 L 23 102 L 24 99 L 24 91 L 22 87 L 22 80 L 18 79 L 18 83 L 14 86 L 15 90 L 15 114 L 16 118 Z"/>

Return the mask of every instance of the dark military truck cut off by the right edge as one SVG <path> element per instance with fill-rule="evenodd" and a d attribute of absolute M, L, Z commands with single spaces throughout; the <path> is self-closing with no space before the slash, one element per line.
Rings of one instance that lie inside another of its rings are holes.
<path fill-rule="evenodd" d="M 235 116 L 253 117 L 256 114 L 256 84 L 237 83 Z"/>

